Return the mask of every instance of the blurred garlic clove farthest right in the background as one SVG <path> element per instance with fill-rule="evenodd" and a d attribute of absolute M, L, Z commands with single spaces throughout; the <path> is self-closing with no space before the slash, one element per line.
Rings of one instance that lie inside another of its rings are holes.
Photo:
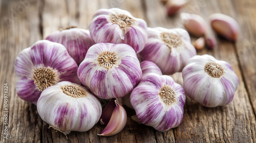
<path fill-rule="evenodd" d="M 211 27 L 224 38 L 236 41 L 239 36 L 239 25 L 232 17 L 215 13 L 210 15 Z"/>

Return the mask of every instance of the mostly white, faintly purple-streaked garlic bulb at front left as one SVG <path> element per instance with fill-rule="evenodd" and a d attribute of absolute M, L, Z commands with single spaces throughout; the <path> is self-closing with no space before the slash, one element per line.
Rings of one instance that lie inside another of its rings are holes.
<path fill-rule="evenodd" d="M 50 127 L 67 135 L 90 130 L 99 121 L 102 109 L 87 88 L 63 81 L 42 91 L 37 111 Z"/>

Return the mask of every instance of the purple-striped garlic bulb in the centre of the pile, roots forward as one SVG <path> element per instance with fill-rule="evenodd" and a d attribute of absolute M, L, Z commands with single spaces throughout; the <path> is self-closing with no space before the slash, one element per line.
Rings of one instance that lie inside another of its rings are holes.
<path fill-rule="evenodd" d="M 141 76 L 138 57 L 127 44 L 94 44 L 78 67 L 81 83 L 101 99 L 126 96 Z"/>

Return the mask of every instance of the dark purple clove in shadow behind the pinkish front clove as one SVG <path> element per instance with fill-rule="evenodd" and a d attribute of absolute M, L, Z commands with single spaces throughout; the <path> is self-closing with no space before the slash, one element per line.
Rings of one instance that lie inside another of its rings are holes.
<path fill-rule="evenodd" d="M 115 107 L 116 107 L 115 99 L 111 99 L 109 103 L 102 110 L 102 114 L 99 120 L 101 125 L 106 125 L 109 123 L 112 112 L 114 111 Z"/>

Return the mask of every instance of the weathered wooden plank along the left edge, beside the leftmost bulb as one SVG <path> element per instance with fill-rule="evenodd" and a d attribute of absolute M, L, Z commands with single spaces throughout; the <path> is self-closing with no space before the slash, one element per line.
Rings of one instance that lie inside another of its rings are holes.
<path fill-rule="evenodd" d="M 40 142 L 41 119 L 36 106 L 17 97 L 14 73 L 16 56 L 20 51 L 41 39 L 39 29 L 40 1 L 1 2 L 1 65 L 0 65 L 0 142 Z M 8 139 L 4 138 L 4 83 L 8 83 Z"/>

